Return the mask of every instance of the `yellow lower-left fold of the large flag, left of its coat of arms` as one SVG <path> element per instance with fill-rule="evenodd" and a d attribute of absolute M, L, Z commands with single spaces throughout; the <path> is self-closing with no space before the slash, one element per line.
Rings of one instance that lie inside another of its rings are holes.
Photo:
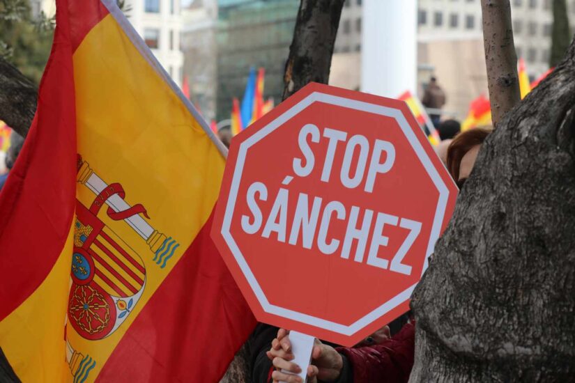
<path fill-rule="evenodd" d="M 72 227 L 43 283 L 0 322 L 0 345 L 22 382 L 71 380 L 66 365 L 64 323 L 73 242 Z"/>

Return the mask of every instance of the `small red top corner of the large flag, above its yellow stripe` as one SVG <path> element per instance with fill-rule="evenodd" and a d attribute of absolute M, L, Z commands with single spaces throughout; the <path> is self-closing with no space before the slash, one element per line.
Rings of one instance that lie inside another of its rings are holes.
<path fill-rule="evenodd" d="M 84 37 L 109 13 L 100 0 L 68 1 L 70 13 L 70 39 L 72 49 L 80 45 Z"/>

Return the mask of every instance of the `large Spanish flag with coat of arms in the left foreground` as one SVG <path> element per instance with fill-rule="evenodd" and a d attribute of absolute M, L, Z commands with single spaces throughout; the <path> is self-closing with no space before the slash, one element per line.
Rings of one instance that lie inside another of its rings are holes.
<path fill-rule="evenodd" d="M 115 0 L 56 6 L 0 194 L 0 356 L 23 382 L 216 382 L 255 324 L 209 235 L 226 150 Z"/>

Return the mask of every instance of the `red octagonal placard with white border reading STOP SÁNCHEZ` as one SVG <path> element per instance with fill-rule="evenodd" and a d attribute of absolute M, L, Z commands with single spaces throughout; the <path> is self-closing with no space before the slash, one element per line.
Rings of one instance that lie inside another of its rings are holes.
<path fill-rule="evenodd" d="M 212 237 L 260 322 L 351 346 L 408 311 L 456 197 L 404 102 L 309 84 L 233 139 Z"/>

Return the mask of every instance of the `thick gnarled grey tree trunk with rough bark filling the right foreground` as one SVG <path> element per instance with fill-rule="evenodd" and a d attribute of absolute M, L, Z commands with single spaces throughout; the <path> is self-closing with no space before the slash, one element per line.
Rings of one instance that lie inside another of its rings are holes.
<path fill-rule="evenodd" d="M 488 137 L 412 307 L 410 382 L 575 380 L 575 46 Z"/>

